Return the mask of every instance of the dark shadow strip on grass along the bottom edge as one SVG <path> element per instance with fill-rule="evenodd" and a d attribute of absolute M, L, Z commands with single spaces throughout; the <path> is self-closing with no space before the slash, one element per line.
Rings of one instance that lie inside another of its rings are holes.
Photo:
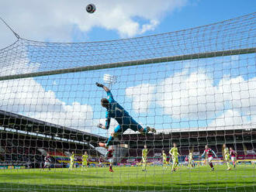
<path fill-rule="evenodd" d="M 251 183 L 251 182 L 249 182 Z M 202 184 L 202 183 L 201 183 Z M 19 192 L 55 192 L 55 191 L 75 191 L 75 192 L 132 192 L 132 191 L 161 191 L 161 192 L 254 192 L 256 186 L 244 186 L 244 187 L 207 187 L 207 186 L 195 186 L 188 183 L 189 187 L 181 186 L 78 186 L 78 185 L 29 185 L 20 183 L 0 183 L 0 191 L 19 191 Z"/>

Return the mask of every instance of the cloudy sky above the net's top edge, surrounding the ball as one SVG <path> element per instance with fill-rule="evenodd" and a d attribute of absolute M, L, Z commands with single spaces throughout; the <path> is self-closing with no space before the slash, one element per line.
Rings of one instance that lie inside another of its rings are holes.
<path fill-rule="evenodd" d="M 85 5 L 90 2 L 95 3 L 97 7 L 97 11 L 92 15 L 85 12 Z M 133 36 L 166 33 L 220 22 L 254 12 L 256 7 L 256 2 L 253 0 L 216 0 L 214 2 L 209 0 L 159 0 L 157 2 L 141 0 L 140 2 L 141 5 L 133 0 L 129 2 L 111 0 L 109 3 L 112 9 L 109 9 L 108 2 L 101 0 L 78 0 L 76 2 L 47 0 L 43 4 L 30 0 L 26 2 L 13 0 L 12 2 L 2 1 L 0 5 L 3 8 L 2 18 L 19 36 L 51 42 L 87 42 L 128 37 L 120 36 L 119 33 L 118 27 L 122 25 L 122 19 L 117 19 L 118 16 L 113 14 L 118 6 L 121 8 L 123 6 L 122 12 L 125 16 L 123 21 L 132 20 L 141 25 L 148 23 L 150 19 L 157 19 L 157 26 L 142 34 L 134 33 Z M 13 3 L 16 3 L 16 6 L 13 6 Z M 100 15 L 101 13 L 103 15 Z M 111 14 L 113 14 L 112 17 L 109 16 Z M 103 25 L 101 21 L 105 17 L 109 20 L 106 25 Z M 2 31 L 1 49 L 13 43 L 16 38 L 2 23 L 0 30 Z"/>

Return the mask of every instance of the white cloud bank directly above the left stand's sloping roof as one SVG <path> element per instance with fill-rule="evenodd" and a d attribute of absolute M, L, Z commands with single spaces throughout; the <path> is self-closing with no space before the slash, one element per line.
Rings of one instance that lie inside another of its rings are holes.
<path fill-rule="evenodd" d="M 10 75 L 35 72 L 40 64 L 29 63 L 24 52 L 23 57 L 12 60 L 8 66 L 0 59 L 0 67 L 0 75 Z M 0 108 L 74 129 L 90 132 L 92 128 L 92 106 L 78 102 L 67 105 L 56 97 L 54 91 L 46 91 L 33 78 L 1 81 Z"/>

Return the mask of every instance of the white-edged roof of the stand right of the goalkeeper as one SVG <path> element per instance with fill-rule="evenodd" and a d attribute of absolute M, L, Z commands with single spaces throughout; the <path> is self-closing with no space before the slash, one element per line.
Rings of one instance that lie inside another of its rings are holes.
<path fill-rule="evenodd" d="M 216 145 L 223 143 L 246 143 L 256 141 L 256 125 L 237 125 L 209 128 L 191 129 L 161 129 L 156 134 L 140 134 L 138 132 L 126 132 L 120 135 L 120 142 L 129 146 L 171 146 L 171 142 L 178 142 L 182 146 Z"/>

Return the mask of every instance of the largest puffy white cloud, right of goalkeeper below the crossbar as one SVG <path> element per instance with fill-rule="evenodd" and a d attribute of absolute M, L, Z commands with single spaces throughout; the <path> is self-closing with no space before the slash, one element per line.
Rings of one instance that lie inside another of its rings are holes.
<path fill-rule="evenodd" d="M 186 71 L 166 78 L 157 86 L 157 105 L 172 118 L 207 119 L 224 108 L 223 95 L 204 71 Z"/>

